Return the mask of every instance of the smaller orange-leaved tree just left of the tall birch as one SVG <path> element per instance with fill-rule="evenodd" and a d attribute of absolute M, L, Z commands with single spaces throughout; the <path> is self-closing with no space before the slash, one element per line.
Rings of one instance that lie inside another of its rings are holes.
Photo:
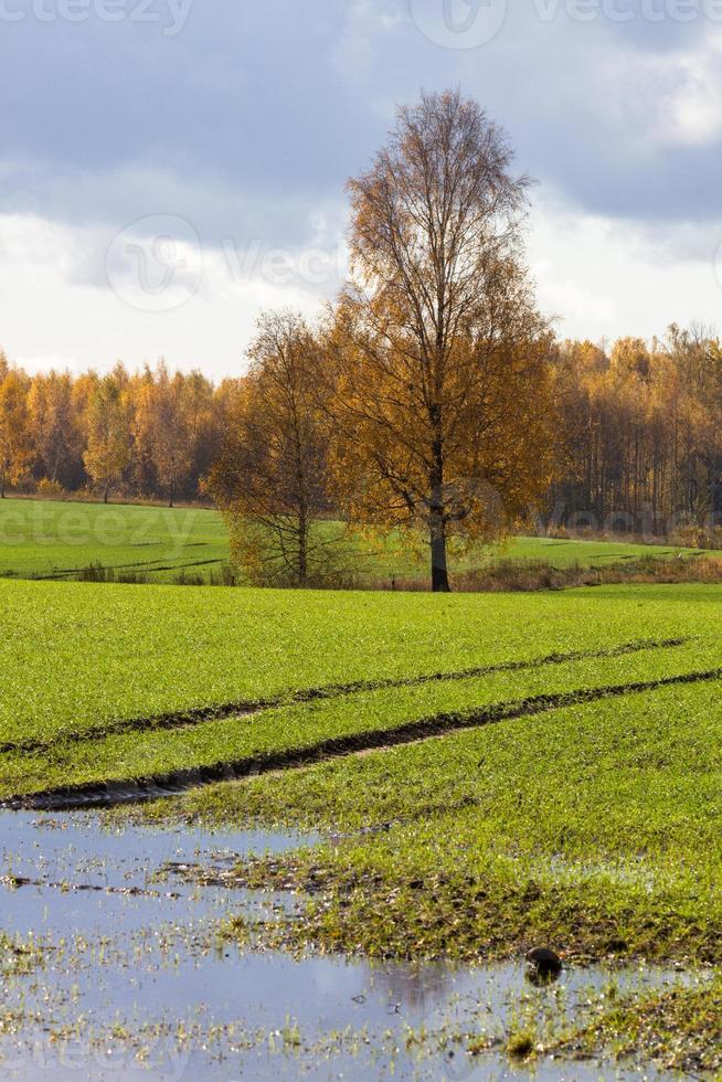
<path fill-rule="evenodd" d="M 232 553 L 264 585 L 322 585 L 333 572 L 320 352 L 301 316 L 266 312 L 248 350 L 209 488 Z"/>

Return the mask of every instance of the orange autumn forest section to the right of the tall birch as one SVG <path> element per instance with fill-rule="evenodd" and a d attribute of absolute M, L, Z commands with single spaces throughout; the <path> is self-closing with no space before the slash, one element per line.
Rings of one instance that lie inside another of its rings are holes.
<path fill-rule="evenodd" d="M 562 521 L 700 539 L 722 522 L 722 346 L 704 327 L 554 350 Z"/>

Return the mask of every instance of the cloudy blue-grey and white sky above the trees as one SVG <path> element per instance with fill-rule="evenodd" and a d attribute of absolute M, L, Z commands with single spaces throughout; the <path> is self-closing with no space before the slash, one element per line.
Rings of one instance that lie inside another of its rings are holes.
<path fill-rule="evenodd" d="M 0 344 L 240 372 L 261 308 L 336 291 L 395 105 L 449 86 L 538 180 L 560 335 L 718 323 L 722 0 L 0 0 Z"/>

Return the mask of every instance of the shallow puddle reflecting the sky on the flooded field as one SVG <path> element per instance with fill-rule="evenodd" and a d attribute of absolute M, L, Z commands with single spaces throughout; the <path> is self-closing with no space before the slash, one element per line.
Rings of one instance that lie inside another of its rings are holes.
<path fill-rule="evenodd" d="M 220 945 L 209 927 L 293 899 L 158 880 L 168 863 L 225 863 L 315 839 L 291 834 L 104 829 L 92 814 L 0 814 L 0 930 L 50 940 L 36 973 L 6 983 L 2 1011 L 38 1014 L 0 1039 L 4 1078 L 64 1079 L 502 1079 L 496 1056 L 450 1058 L 434 1041 L 407 1047 L 422 1028 L 493 1035 L 529 986 L 519 965 L 372 966 L 332 957 L 296 961 Z M 85 888 L 85 889 L 81 889 Z M 89 888 L 89 889 L 87 889 Z M 540 1004 L 584 1001 L 610 978 L 566 972 Z M 616 970 L 619 990 L 691 978 Z M 116 1038 L 110 1035 L 117 1027 Z M 146 1048 L 146 1059 L 139 1058 Z M 431 1051 L 429 1051 L 431 1048 Z M 628 1078 L 598 1067 L 544 1063 L 535 1078 Z M 645 1071 L 646 1078 L 655 1078 Z"/>

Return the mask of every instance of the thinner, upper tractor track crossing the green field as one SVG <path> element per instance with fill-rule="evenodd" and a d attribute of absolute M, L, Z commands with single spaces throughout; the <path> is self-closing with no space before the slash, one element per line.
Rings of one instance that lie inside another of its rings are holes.
<path fill-rule="evenodd" d="M 329 683 L 318 688 L 307 688 L 299 691 L 291 691 L 287 694 L 274 696 L 268 699 L 237 700 L 220 703 L 215 707 L 192 707 L 190 710 L 161 713 L 150 718 L 120 719 L 94 729 L 61 731 L 52 740 L 9 741 L 7 743 L 0 743 L 0 755 L 32 755 L 67 744 L 103 741 L 107 736 L 116 736 L 126 732 L 187 729 L 206 722 L 223 721 L 231 718 L 251 718 L 265 710 L 273 710 L 279 707 L 320 702 L 327 699 L 341 699 L 346 696 L 360 694 L 364 691 L 422 687 L 425 683 L 440 683 L 446 680 L 471 680 L 478 677 L 493 676 L 497 672 L 520 672 L 528 669 L 540 669 L 548 665 L 565 665 L 574 661 L 593 661 L 597 658 L 624 657 L 627 654 L 640 654 L 645 650 L 673 649 L 675 647 L 684 646 L 689 641 L 689 638 L 637 639 L 633 643 L 623 643 L 620 646 L 606 647 L 599 650 L 548 654 L 541 658 L 499 661 L 495 665 L 481 665 L 450 672 L 421 673 L 413 677 L 389 677 L 379 680 L 357 680 L 350 683 Z"/>

